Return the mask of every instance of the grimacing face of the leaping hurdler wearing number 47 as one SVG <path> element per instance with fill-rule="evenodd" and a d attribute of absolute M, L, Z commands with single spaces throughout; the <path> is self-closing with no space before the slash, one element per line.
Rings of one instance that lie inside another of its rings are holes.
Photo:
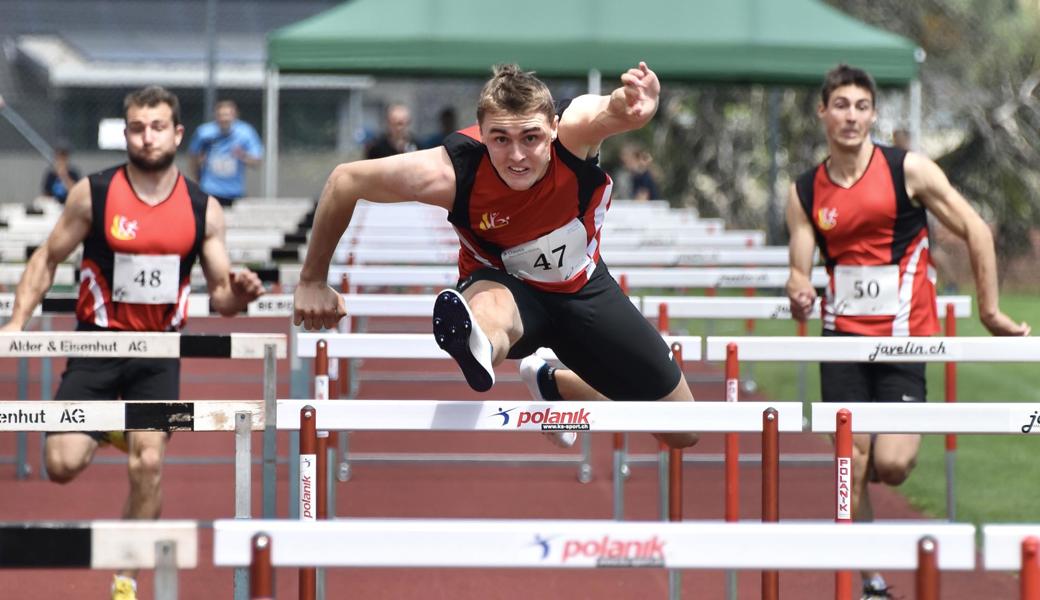
<path fill-rule="evenodd" d="M 511 189 L 529 189 L 549 168 L 557 119 L 541 112 L 489 112 L 480 124 L 480 139 L 491 164 Z"/>

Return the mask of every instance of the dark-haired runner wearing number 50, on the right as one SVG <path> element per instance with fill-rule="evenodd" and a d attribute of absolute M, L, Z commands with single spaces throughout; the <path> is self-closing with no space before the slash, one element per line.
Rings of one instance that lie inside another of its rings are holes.
<path fill-rule="evenodd" d="M 877 146 L 873 78 L 840 66 L 821 89 L 817 116 L 829 156 L 790 187 L 791 314 L 805 320 L 816 302 L 809 275 L 816 246 L 829 281 L 824 336 L 930 336 L 939 331 L 935 269 L 929 256 L 928 213 L 967 242 L 979 294 L 979 316 L 993 335 L 1029 335 L 999 310 L 996 259 L 988 226 L 933 161 Z M 925 364 L 822 363 L 824 401 L 925 401 Z M 852 516 L 873 518 L 867 481 L 902 484 L 920 436 L 853 436 Z M 890 598 L 879 573 L 863 573 L 863 598 Z"/>

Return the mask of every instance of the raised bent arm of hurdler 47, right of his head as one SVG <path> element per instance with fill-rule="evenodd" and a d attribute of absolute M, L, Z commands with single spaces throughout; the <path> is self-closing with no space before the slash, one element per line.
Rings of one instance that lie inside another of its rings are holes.
<path fill-rule="evenodd" d="M 560 141 L 575 156 L 595 156 L 607 137 L 649 123 L 659 96 L 657 74 L 640 62 L 621 75 L 621 87 L 608 96 L 575 98 L 561 116 Z"/>

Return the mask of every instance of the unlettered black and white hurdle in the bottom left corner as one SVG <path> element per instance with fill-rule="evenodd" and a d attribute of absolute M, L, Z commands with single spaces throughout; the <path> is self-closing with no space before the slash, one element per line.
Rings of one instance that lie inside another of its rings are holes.
<path fill-rule="evenodd" d="M 194 521 L 0 522 L 0 569 L 154 569 L 153 597 L 176 600 L 198 562 Z"/>

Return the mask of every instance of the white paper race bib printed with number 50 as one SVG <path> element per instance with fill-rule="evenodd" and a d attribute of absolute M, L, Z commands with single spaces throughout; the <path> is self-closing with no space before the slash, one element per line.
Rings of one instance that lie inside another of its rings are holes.
<path fill-rule="evenodd" d="M 889 316 L 900 310 L 900 267 L 837 265 L 834 267 L 834 314 Z"/>

